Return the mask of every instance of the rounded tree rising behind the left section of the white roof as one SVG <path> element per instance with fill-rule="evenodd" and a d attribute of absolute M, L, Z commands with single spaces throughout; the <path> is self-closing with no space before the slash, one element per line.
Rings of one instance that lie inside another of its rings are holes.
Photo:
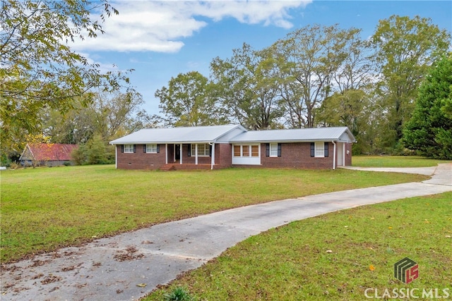
<path fill-rule="evenodd" d="M 168 87 L 162 87 L 155 92 L 160 99 L 161 112 L 165 114 L 166 125 L 199 126 L 225 123 L 215 104 L 215 98 L 210 96 L 208 79 L 198 73 L 179 74 L 171 78 Z"/>

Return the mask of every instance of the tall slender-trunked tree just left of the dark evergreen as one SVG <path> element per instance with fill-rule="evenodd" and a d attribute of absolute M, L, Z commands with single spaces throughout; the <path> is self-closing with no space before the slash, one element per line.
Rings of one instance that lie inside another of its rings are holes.
<path fill-rule="evenodd" d="M 428 18 L 391 16 L 371 37 L 379 79 L 379 105 L 385 109 L 383 141 L 396 148 L 415 105 L 417 89 L 434 61 L 451 46 L 451 35 Z"/>

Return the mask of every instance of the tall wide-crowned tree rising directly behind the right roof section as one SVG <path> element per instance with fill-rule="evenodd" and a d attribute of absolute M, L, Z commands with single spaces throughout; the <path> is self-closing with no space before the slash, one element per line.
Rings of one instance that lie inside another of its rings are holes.
<path fill-rule="evenodd" d="M 342 30 L 338 25 L 313 25 L 273 44 L 282 79 L 280 93 L 291 128 L 316 125 L 316 109 L 331 94 L 333 76 L 348 57 L 349 41 L 358 34 L 357 29 Z"/>

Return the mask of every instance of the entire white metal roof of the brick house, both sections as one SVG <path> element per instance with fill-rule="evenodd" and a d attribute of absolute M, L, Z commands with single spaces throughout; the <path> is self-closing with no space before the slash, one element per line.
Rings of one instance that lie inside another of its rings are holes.
<path fill-rule="evenodd" d="M 234 130 L 242 131 L 229 138 L 228 142 L 314 142 L 339 141 L 355 142 L 355 137 L 347 127 L 340 128 L 300 128 L 290 130 L 251 130 L 247 132 L 242 125 L 212 125 L 188 128 L 149 128 L 138 130 L 110 142 L 112 145 L 146 143 L 192 143 L 215 142 Z"/>

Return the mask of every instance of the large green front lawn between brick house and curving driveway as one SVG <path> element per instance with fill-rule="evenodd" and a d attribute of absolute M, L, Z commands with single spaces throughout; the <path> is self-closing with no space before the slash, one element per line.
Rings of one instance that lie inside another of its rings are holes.
<path fill-rule="evenodd" d="M 232 207 L 427 178 L 340 168 L 161 172 L 114 166 L 27 168 L 0 176 L 1 262 Z"/>

